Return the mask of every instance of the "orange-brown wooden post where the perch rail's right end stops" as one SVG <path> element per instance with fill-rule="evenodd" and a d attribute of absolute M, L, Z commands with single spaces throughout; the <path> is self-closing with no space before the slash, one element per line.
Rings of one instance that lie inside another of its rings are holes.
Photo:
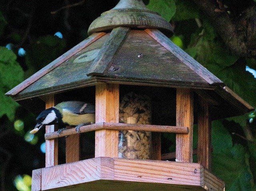
<path fill-rule="evenodd" d="M 176 160 L 192 162 L 193 141 L 193 92 L 191 89 L 177 89 L 176 126 L 189 128 L 188 134 L 176 134 Z"/>

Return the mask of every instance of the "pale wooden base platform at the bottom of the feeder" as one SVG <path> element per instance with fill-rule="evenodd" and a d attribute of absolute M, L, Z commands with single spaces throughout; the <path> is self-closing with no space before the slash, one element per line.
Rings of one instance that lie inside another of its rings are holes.
<path fill-rule="evenodd" d="M 223 191 L 198 163 L 98 157 L 33 170 L 32 191 Z"/>

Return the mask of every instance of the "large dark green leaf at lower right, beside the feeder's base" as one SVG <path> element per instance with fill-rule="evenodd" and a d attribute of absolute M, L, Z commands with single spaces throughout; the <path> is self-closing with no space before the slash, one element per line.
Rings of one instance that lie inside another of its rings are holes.
<path fill-rule="evenodd" d="M 251 191 L 253 177 L 249 156 L 219 120 L 212 122 L 212 172 L 226 184 L 227 191 Z"/>

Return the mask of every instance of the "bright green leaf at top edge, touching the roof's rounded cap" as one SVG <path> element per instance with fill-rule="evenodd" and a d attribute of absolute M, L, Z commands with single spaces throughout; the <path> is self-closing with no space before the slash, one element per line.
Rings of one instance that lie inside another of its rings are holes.
<path fill-rule="evenodd" d="M 158 12 L 168 22 L 176 12 L 174 0 L 150 0 L 147 8 Z"/>

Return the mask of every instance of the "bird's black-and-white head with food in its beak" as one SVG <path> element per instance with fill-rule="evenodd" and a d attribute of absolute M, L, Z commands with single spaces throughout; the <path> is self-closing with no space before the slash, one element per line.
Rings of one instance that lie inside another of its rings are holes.
<path fill-rule="evenodd" d="M 59 110 L 54 107 L 42 111 L 36 118 L 36 126 L 30 133 L 36 133 L 40 128 L 46 125 L 54 125 L 62 122 Z"/>

